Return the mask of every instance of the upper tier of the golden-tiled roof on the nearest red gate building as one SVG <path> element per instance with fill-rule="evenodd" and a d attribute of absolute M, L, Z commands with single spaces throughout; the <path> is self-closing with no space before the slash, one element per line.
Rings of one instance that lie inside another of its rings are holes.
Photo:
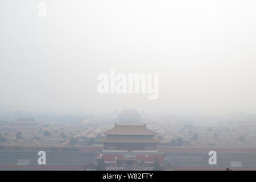
<path fill-rule="evenodd" d="M 117 125 L 105 132 L 106 135 L 155 135 L 146 125 Z"/>

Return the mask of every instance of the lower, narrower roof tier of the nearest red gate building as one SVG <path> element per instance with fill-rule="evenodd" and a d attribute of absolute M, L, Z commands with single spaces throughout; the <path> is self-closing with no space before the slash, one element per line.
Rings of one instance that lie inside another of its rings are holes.
<path fill-rule="evenodd" d="M 158 143 L 159 141 L 154 138 L 106 138 L 102 140 L 103 143 Z"/>

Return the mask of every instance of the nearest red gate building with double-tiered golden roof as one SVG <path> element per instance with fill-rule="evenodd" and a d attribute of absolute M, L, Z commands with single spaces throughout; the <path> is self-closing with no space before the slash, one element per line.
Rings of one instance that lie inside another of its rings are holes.
<path fill-rule="evenodd" d="M 103 156 L 110 169 L 151 169 L 155 159 L 162 163 L 163 155 L 157 150 L 155 133 L 146 125 L 118 125 L 105 132 Z"/>

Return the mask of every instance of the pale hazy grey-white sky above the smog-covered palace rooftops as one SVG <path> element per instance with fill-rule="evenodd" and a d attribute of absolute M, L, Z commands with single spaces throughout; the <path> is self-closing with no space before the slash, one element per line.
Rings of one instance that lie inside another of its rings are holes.
<path fill-rule="evenodd" d="M 1 1 L 0 109 L 256 114 L 255 9 L 253 0 Z M 158 100 L 98 94 L 110 68 L 159 73 Z"/>

